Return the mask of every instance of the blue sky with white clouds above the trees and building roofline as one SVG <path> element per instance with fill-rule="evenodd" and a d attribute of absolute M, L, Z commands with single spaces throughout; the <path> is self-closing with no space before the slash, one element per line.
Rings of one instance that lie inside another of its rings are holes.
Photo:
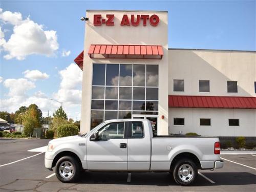
<path fill-rule="evenodd" d="M 256 51 L 256 1 L 1 1 L 0 111 L 80 119 L 86 10 L 168 11 L 168 47 Z M 57 101 L 54 101 L 54 100 Z"/>

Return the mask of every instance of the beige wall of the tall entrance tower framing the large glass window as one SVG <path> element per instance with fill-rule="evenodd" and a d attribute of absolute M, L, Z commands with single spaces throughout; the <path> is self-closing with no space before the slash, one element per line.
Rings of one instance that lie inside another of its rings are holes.
<path fill-rule="evenodd" d="M 115 14 L 115 26 L 94 26 L 93 15 Z M 157 14 L 160 22 L 157 27 L 149 23 L 146 27 L 142 23 L 137 26 L 120 26 L 123 14 Z M 159 131 L 161 135 L 168 134 L 168 37 L 167 12 L 147 11 L 90 11 L 86 13 L 89 21 L 86 22 L 84 36 L 84 59 L 83 59 L 83 83 L 82 83 L 82 107 L 81 107 L 81 132 L 90 130 L 91 121 L 91 91 L 92 91 L 92 63 L 133 63 L 159 65 Z M 91 44 L 111 45 L 162 45 L 164 56 L 162 59 L 91 59 L 88 50 Z"/>

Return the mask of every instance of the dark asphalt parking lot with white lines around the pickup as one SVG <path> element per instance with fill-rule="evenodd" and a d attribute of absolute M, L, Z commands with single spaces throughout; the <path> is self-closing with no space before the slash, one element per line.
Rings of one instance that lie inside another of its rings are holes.
<path fill-rule="evenodd" d="M 0 191 L 256 191 L 256 154 L 221 155 L 223 168 L 199 170 L 188 187 L 169 173 L 83 172 L 76 183 L 61 183 L 44 167 L 44 153 L 28 152 L 48 142 L 0 139 Z"/>

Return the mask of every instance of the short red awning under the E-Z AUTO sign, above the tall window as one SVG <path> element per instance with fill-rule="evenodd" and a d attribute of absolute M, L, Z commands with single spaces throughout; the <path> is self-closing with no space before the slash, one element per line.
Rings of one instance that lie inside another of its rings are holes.
<path fill-rule="evenodd" d="M 157 45 L 91 45 L 88 55 L 91 58 L 161 59 L 163 48 Z"/>

